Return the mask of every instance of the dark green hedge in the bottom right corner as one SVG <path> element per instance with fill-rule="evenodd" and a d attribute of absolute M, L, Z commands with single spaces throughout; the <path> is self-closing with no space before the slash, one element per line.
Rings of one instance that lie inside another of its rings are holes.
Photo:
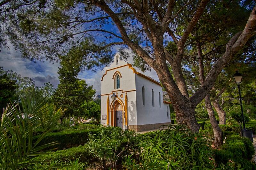
<path fill-rule="evenodd" d="M 214 150 L 215 162 L 217 167 L 226 165 L 227 167 L 236 167 L 237 169 L 256 169 L 256 165 L 251 163 L 254 152 L 254 147 L 249 138 L 232 135 L 227 137 L 222 150 Z M 230 162 L 233 162 L 231 166 Z"/>

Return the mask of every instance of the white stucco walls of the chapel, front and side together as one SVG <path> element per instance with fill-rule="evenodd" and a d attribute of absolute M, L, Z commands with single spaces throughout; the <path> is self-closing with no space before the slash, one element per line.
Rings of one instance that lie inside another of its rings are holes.
<path fill-rule="evenodd" d="M 109 124 L 111 125 L 111 95 L 113 92 L 118 96 L 118 100 L 121 100 L 125 106 L 125 92 L 127 91 L 128 99 L 128 125 L 145 125 L 155 123 L 171 122 L 169 105 L 163 103 L 162 86 L 135 74 L 129 63 L 123 60 L 118 60 L 118 64 L 115 61 L 107 68 L 106 74 L 101 81 L 101 115 L 108 114 Z M 124 66 L 124 67 L 122 67 Z M 115 89 L 115 78 L 113 75 L 119 71 L 120 88 Z M 145 106 L 142 104 L 142 86 L 145 88 Z M 155 106 L 152 106 L 152 89 L 154 90 Z M 161 98 L 161 107 L 159 106 L 159 92 Z M 107 113 L 107 98 L 109 95 L 109 113 Z M 121 97 L 123 94 L 123 97 Z M 167 109 L 168 107 L 168 109 Z M 125 109 L 125 108 L 123 108 Z M 167 112 L 168 115 L 167 116 Z M 102 116 L 101 116 L 102 118 Z M 124 125 L 125 122 L 123 121 Z M 107 124 L 107 120 L 101 120 L 101 124 Z M 126 127 L 127 128 L 127 127 Z"/>

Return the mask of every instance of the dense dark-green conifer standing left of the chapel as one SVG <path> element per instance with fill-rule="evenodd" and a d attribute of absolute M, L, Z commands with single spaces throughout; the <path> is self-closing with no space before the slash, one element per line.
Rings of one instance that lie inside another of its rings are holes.
<path fill-rule="evenodd" d="M 85 80 L 77 78 L 82 67 L 81 55 L 71 52 L 60 58 L 61 67 L 59 67 L 58 71 L 60 84 L 52 96 L 53 102 L 58 108 L 67 109 L 63 117 L 68 115 L 82 117 L 81 105 L 84 101 L 92 100 L 96 91 L 92 86 L 88 86 Z"/>

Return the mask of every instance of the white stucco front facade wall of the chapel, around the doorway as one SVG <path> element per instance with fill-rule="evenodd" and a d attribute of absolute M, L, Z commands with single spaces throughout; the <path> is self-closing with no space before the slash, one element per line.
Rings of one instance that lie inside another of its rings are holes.
<path fill-rule="evenodd" d="M 116 55 L 115 55 L 116 59 Z M 101 115 L 106 115 L 107 113 L 107 98 L 109 94 L 109 105 L 112 103 L 111 95 L 114 92 L 119 97 L 118 100 L 122 100 L 122 102 L 125 105 L 125 92 L 127 92 L 127 98 L 128 98 L 128 125 L 136 125 L 137 124 L 137 116 L 136 116 L 136 86 L 135 86 L 135 74 L 133 73 L 132 69 L 129 69 L 129 66 L 127 65 L 129 63 L 120 60 L 118 61 L 118 64 L 116 64 L 116 61 L 112 63 L 107 68 L 107 74 L 103 76 L 103 79 L 101 81 Z M 124 66 L 126 65 L 126 66 Z M 120 67 L 124 66 L 124 67 Z M 116 68 L 119 67 L 119 68 Z M 116 68 L 116 69 L 113 69 Z M 113 70 L 111 70 L 113 69 Z M 115 79 L 113 78 L 113 75 L 116 71 L 119 71 L 121 76 L 120 77 L 120 88 L 115 89 Z M 129 92 L 130 91 L 130 92 Z M 110 94 L 111 93 L 111 94 Z M 123 97 L 121 98 L 121 94 L 123 94 Z M 109 109 L 109 124 L 111 124 L 111 109 Z M 102 118 L 102 116 L 101 116 Z M 123 122 L 125 123 L 125 122 Z M 101 124 L 107 124 L 107 120 L 101 120 Z"/>

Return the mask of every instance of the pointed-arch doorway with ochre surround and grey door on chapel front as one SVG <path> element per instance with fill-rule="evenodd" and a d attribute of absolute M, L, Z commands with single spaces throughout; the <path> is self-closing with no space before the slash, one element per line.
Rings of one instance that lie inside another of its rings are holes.
<path fill-rule="evenodd" d="M 114 114 L 114 107 L 115 107 L 115 114 Z M 112 105 L 111 107 L 111 126 L 120 127 L 123 129 L 123 122 L 124 122 L 123 113 L 124 113 L 124 107 L 118 100 L 116 100 L 115 106 Z"/>

